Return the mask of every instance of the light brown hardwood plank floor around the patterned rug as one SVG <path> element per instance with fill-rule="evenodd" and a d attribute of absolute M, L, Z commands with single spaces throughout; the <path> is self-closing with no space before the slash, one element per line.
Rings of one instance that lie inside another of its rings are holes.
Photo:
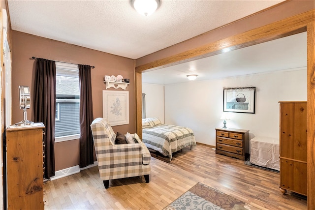
<path fill-rule="evenodd" d="M 46 210 L 161 210 L 201 182 L 248 204 L 268 210 L 306 210 L 307 200 L 283 195 L 279 173 L 258 169 L 244 161 L 216 154 L 197 145 L 168 158 L 151 158 L 150 183 L 143 177 L 110 180 L 106 190 L 97 167 L 45 182 Z"/>

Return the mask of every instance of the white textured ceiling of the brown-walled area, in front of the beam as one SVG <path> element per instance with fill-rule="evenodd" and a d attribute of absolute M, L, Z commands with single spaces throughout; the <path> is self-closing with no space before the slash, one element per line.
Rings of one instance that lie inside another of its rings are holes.
<path fill-rule="evenodd" d="M 138 59 L 284 0 L 161 0 L 151 16 L 130 0 L 7 0 L 11 28 Z"/>

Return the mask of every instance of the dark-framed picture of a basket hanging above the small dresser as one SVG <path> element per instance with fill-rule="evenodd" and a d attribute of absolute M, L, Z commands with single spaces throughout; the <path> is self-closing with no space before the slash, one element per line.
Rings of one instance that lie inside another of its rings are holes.
<path fill-rule="evenodd" d="M 255 87 L 223 88 L 223 112 L 255 113 Z"/>

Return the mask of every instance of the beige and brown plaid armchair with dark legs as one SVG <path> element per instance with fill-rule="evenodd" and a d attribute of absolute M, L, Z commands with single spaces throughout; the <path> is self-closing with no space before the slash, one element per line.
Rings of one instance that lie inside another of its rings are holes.
<path fill-rule="evenodd" d="M 144 175 L 149 183 L 151 154 L 135 133 L 134 144 L 116 144 L 116 134 L 109 122 L 96 118 L 91 124 L 100 179 L 109 187 L 109 180 Z"/>

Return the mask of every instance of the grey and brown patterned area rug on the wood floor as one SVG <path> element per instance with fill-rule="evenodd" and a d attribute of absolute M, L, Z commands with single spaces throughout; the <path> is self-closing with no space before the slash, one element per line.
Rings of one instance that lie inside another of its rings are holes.
<path fill-rule="evenodd" d="M 260 210 L 198 182 L 163 210 Z"/>

